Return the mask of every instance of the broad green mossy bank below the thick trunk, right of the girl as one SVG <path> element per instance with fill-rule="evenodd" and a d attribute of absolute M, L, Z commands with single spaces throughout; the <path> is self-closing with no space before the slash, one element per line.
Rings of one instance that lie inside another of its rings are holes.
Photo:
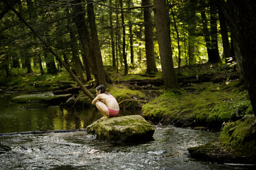
<path fill-rule="evenodd" d="M 160 121 L 167 116 L 169 122 L 191 119 L 199 125 L 220 129 L 224 121 L 236 119 L 237 110 L 240 117 L 253 113 L 246 91 L 233 92 L 224 86 L 202 83 L 194 87 L 194 93 L 181 90 L 175 94 L 168 90 L 145 104 L 142 115 L 151 121 Z"/>

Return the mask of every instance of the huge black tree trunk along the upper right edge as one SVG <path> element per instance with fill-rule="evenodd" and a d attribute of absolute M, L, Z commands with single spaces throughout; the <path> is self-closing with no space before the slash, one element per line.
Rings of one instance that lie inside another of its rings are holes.
<path fill-rule="evenodd" d="M 244 80 L 256 116 L 256 4 L 255 1 L 218 0 L 217 4 L 231 27 L 232 38 L 240 47 Z"/>

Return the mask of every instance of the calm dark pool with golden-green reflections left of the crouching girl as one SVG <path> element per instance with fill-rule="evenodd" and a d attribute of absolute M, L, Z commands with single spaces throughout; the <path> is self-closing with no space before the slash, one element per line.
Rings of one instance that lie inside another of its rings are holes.
<path fill-rule="evenodd" d="M 101 115 L 96 108 L 76 111 L 46 104 L 15 104 L 17 94 L 0 94 L 0 133 L 83 129 Z"/>

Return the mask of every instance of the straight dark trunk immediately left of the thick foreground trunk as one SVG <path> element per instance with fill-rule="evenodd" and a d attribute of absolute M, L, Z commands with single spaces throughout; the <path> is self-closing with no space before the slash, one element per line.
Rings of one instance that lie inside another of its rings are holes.
<path fill-rule="evenodd" d="M 142 6 L 150 5 L 150 0 L 142 0 Z M 153 27 L 151 19 L 151 8 L 144 8 L 145 25 L 145 49 L 147 58 L 147 73 L 154 73 L 156 69 L 155 53 L 153 51 Z"/>

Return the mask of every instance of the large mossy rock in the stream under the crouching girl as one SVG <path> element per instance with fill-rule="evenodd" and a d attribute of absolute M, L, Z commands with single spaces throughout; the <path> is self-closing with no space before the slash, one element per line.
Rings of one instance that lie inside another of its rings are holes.
<path fill-rule="evenodd" d="M 153 125 L 140 115 L 98 119 L 87 126 L 87 132 L 101 140 L 114 142 L 144 142 L 153 139 Z"/>

